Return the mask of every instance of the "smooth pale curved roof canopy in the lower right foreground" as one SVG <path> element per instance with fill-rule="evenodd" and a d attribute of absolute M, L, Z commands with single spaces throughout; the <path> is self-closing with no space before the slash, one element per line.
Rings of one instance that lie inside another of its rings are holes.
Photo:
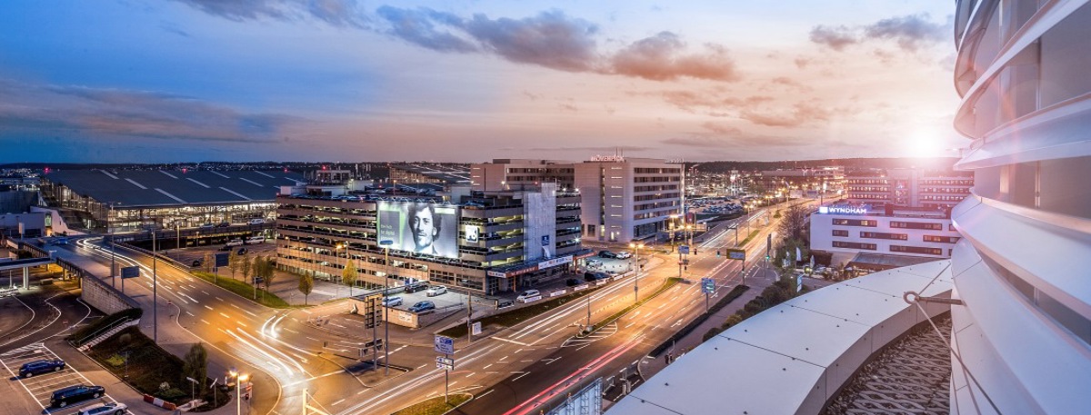
<path fill-rule="evenodd" d="M 925 321 L 906 291 L 947 296 L 952 285 L 950 261 L 939 260 L 798 296 L 680 356 L 608 414 L 818 413 L 868 356 Z"/>

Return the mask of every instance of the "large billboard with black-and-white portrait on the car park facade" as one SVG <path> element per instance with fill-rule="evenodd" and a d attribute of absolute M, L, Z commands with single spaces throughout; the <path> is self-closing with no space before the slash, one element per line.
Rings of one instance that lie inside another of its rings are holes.
<path fill-rule="evenodd" d="M 427 202 L 379 202 L 379 241 L 391 249 L 458 258 L 458 208 Z"/>

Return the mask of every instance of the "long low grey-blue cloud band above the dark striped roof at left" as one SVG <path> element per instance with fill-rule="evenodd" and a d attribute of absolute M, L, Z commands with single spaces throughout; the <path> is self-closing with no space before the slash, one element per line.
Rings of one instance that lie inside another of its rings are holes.
<path fill-rule="evenodd" d="M 80 86 L 15 84 L 0 80 L 0 93 L 20 106 L 0 106 L 0 131 L 69 131 L 165 139 L 274 143 L 299 119 L 241 113 L 169 94 Z"/>

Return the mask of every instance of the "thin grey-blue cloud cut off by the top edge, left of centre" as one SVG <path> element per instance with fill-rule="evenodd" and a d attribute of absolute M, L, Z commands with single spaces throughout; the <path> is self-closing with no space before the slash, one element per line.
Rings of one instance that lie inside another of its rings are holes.
<path fill-rule="evenodd" d="M 175 0 L 230 21 L 316 19 L 337 27 L 363 27 L 356 0 Z"/>

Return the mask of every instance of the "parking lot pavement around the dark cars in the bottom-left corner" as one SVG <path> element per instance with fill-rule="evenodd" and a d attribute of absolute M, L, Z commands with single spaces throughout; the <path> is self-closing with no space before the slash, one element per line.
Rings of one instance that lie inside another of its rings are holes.
<path fill-rule="evenodd" d="M 83 402 L 76 402 L 74 404 L 69 404 L 61 408 L 50 408 L 49 398 L 52 395 L 53 391 L 75 386 L 75 385 L 93 385 L 87 378 L 85 378 L 80 371 L 73 369 L 71 366 L 64 367 L 63 370 L 57 373 L 35 375 L 31 378 L 20 378 L 19 368 L 23 366 L 24 363 L 34 362 L 38 359 L 59 359 L 52 351 L 46 347 L 41 343 L 35 343 L 25 345 L 19 349 L 11 350 L 0 354 L 0 364 L 11 374 L 10 381 L 21 383 L 22 388 L 33 396 L 46 413 L 50 414 L 74 414 L 79 408 L 92 405 L 95 403 L 109 403 L 115 402 L 112 398 L 108 394 L 101 396 L 97 400 L 87 400 Z"/>

